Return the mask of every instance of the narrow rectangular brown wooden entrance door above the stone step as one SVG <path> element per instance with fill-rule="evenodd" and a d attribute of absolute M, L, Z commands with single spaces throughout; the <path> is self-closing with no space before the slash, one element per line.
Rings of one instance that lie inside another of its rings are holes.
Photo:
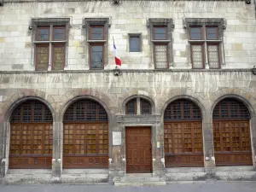
<path fill-rule="evenodd" d="M 152 172 L 150 127 L 126 127 L 126 172 Z"/>

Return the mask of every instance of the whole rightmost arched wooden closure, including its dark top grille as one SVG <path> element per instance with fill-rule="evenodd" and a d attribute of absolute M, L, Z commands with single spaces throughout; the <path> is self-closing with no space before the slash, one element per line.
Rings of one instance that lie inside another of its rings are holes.
<path fill-rule="evenodd" d="M 236 99 L 224 99 L 214 108 L 212 119 L 216 166 L 253 165 L 247 107 Z"/>

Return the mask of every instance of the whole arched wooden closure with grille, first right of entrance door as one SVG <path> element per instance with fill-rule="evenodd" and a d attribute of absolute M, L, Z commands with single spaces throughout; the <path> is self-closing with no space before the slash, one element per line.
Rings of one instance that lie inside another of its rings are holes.
<path fill-rule="evenodd" d="M 203 166 L 201 110 L 194 102 L 171 102 L 164 115 L 166 167 Z"/>

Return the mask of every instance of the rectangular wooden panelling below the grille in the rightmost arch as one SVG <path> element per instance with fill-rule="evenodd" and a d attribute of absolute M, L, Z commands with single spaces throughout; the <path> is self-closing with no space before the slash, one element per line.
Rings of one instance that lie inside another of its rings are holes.
<path fill-rule="evenodd" d="M 253 165 L 248 120 L 213 120 L 216 166 Z"/>

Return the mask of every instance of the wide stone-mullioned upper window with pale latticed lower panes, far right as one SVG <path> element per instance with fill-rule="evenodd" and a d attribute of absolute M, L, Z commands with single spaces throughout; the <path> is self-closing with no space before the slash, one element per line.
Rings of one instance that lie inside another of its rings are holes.
<path fill-rule="evenodd" d="M 187 19 L 192 67 L 220 68 L 223 19 Z"/>

